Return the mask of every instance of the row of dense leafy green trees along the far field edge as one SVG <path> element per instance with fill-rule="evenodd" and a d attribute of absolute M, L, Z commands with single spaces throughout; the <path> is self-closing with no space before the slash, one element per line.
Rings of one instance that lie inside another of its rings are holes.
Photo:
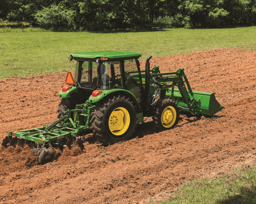
<path fill-rule="evenodd" d="M 256 0 L 0 0 L 0 19 L 49 28 L 220 28 L 256 23 Z"/>

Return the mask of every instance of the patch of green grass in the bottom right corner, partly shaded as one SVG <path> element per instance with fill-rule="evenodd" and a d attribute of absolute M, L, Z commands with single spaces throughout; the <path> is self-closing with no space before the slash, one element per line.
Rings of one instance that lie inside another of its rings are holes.
<path fill-rule="evenodd" d="M 149 204 L 255 204 L 256 168 L 242 167 L 219 179 L 201 179 L 186 182 L 173 192 L 168 201 Z"/>

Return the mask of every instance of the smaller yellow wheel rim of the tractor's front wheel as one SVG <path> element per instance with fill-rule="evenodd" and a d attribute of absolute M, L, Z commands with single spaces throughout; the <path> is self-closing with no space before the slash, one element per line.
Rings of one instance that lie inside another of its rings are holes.
<path fill-rule="evenodd" d="M 166 107 L 161 115 L 161 122 L 165 128 L 170 128 L 176 120 L 176 110 L 173 106 Z"/>

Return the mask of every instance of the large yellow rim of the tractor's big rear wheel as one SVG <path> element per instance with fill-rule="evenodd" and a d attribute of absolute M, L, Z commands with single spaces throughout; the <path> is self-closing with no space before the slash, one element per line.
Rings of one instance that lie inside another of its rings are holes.
<path fill-rule="evenodd" d="M 129 128 L 130 115 L 129 112 L 123 108 L 118 107 L 110 114 L 109 129 L 114 135 L 122 135 Z"/>

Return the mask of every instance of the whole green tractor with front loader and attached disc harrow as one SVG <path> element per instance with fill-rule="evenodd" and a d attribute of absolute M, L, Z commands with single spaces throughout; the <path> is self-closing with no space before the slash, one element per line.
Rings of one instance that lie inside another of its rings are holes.
<path fill-rule="evenodd" d="M 59 92 L 58 120 L 41 128 L 9 131 L 2 145 L 12 145 L 17 138 L 35 142 L 34 153 L 44 164 L 56 159 L 52 146 L 79 143 L 76 137 L 88 129 L 109 145 L 128 140 L 143 117 L 153 116 L 157 130 L 169 130 L 178 123 L 179 110 L 211 116 L 224 109 L 214 93 L 192 91 L 183 68 L 161 73 L 158 66 L 150 69 L 150 56 L 141 70 L 139 57 L 136 52 L 71 53 L 76 70 L 74 78 L 68 72 L 67 86 Z"/>

